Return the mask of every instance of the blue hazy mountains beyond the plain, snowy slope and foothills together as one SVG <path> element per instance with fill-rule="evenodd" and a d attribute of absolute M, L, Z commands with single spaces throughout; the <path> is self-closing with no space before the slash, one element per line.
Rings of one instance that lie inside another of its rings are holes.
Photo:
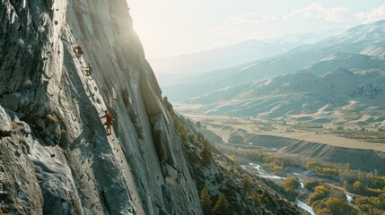
<path fill-rule="evenodd" d="M 351 103 L 357 111 L 383 110 L 384 36 L 385 21 L 363 24 L 278 56 L 197 75 L 163 93 L 203 104 L 202 113 L 230 116 L 315 114 Z"/>

